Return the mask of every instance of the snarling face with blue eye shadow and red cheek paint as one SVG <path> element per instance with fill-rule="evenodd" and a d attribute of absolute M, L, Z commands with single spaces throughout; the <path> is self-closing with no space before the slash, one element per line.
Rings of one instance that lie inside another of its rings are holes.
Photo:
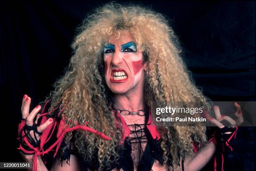
<path fill-rule="evenodd" d="M 130 33 L 121 32 L 118 39 L 112 36 L 104 47 L 105 80 L 113 93 L 143 90 L 146 63 L 143 52 L 137 49 Z"/>

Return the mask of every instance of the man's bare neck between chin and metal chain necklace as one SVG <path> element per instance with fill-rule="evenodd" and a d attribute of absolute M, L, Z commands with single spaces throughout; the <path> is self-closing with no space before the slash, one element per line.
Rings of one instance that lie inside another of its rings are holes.
<path fill-rule="evenodd" d="M 123 94 L 114 94 L 114 107 L 120 110 L 128 109 L 130 111 L 138 111 L 144 109 L 143 87 L 134 88 Z"/>

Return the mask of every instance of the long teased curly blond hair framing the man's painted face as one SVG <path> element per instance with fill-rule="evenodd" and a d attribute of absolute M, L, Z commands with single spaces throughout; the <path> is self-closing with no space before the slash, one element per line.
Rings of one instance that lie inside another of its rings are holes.
<path fill-rule="evenodd" d="M 144 96 L 148 106 L 155 101 L 168 104 L 207 100 L 192 82 L 180 55 L 177 36 L 163 15 L 138 5 L 109 3 L 97 8 L 79 26 L 72 43 L 74 53 L 69 67 L 54 84 L 55 90 L 51 91 L 48 99 L 51 99 L 50 110 L 57 106 L 65 107 L 62 115 L 67 123 L 71 121 L 71 126 L 75 126 L 77 121 L 87 121 L 91 128 L 111 138 L 105 140 L 85 131 L 68 133 L 65 137 L 67 146 L 74 137 L 74 145 L 84 154 L 84 160 L 97 160 L 100 168 L 110 166 L 120 157 L 116 149 L 122 131 L 115 126 L 115 115 L 111 109 L 113 100 L 105 83 L 102 51 L 110 36 L 121 31 L 128 31 L 137 48 L 144 52 L 148 65 Z M 179 156 L 193 153 L 193 142 L 203 144 L 206 141 L 203 126 L 157 129 L 161 133 L 164 164 L 171 155 L 173 166 L 177 166 Z M 170 146 L 166 146 L 167 143 Z M 97 158 L 93 155 L 95 152 Z"/>

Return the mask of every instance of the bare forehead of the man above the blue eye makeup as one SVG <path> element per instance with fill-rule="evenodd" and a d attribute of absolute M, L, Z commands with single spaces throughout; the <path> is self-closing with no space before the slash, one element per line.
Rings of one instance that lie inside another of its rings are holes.
<path fill-rule="evenodd" d="M 127 31 L 116 32 L 109 38 L 109 43 L 118 46 L 131 41 L 133 41 L 133 38 L 131 37 L 131 34 Z"/>

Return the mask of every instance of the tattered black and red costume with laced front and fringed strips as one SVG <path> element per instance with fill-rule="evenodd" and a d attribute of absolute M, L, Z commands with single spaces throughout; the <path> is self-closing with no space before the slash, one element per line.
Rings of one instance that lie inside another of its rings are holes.
<path fill-rule="evenodd" d="M 46 104 L 44 105 L 44 108 L 42 109 L 42 114 L 40 115 L 40 119 L 38 120 L 38 123 L 43 124 L 44 122 L 47 121 L 47 117 L 49 116 L 49 112 L 44 113 L 44 111 L 46 109 L 46 105 L 48 104 L 49 101 L 46 102 Z M 66 126 L 65 121 L 63 119 L 61 119 L 61 112 L 64 111 L 64 108 L 60 109 L 55 108 L 54 111 L 51 111 L 51 117 L 54 119 L 53 123 L 51 124 L 51 126 L 47 127 L 41 134 L 40 136 L 40 141 L 39 143 L 36 144 L 40 144 L 39 146 L 35 147 L 32 146 L 31 143 L 28 141 L 29 138 L 26 138 L 26 131 L 24 131 L 24 128 L 26 129 L 27 127 L 26 125 L 26 120 L 22 120 L 21 123 L 19 124 L 19 128 L 18 128 L 18 132 L 20 137 L 18 137 L 19 141 L 20 141 L 20 147 L 18 149 L 22 150 L 23 153 L 26 154 L 35 154 L 34 155 L 34 162 L 33 162 L 33 171 L 37 170 L 37 165 L 36 165 L 36 160 L 37 160 L 37 156 L 41 156 L 42 160 L 44 161 L 44 163 L 47 165 L 48 167 L 51 167 L 52 163 L 54 162 L 54 160 L 56 159 L 55 156 L 57 155 L 59 148 L 63 148 L 64 146 L 66 146 L 66 144 L 64 143 L 63 139 L 64 139 L 64 135 L 65 133 L 69 132 L 69 131 L 74 131 L 77 129 L 82 129 L 84 131 L 90 131 L 92 133 L 97 134 L 98 136 L 105 138 L 107 140 L 110 140 L 110 137 L 105 136 L 103 133 L 93 130 L 92 128 L 87 127 L 87 123 L 85 125 L 79 124 L 77 123 L 77 126 L 74 126 L 72 128 L 69 128 L 70 123 L 68 126 Z M 162 149 L 160 146 L 161 143 L 161 136 L 160 133 L 156 130 L 156 126 L 154 125 L 154 123 L 151 121 L 151 113 L 150 110 L 146 111 L 146 115 L 145 115 L 145 127 L 141 128 L 141 125 L 139 124 L 134 124 L 134 125 L 129 125 L 129 126 L 135 126 L 135 131 L 130 131 L 130 128 L 126 125 L 125 120 L 123 119 L 123 117 L 120 115 L 120 113 L 118 111 L 114 112 L 116 118 L 120 119 L 120 122 L 123 124 L 123 140 L 120 144 L 119 147 L 116 148 L 116 152 L 118 152 L 120 154 L 120 158 L 111 163 L 110 168 L 103 168 L 102 170 L 105 171 L 110 171 L 113 168 L 122 168 L 124 171 L 133 171 L 133 159 L 131 157 L 131 138 L 129 138 L 129 134 L 131 133 L 135 133 L 136 134 L 136 139 L 137 142 L 136 143 L 140 143 L 141 146 L 141 142 L 145 142 L 147 141 L 146 144 L 146 148 L 144 149 L 143 153 L 140 154 L 140 161 L 139 161 L 139 165 L 138 165 L 138 171 L 150 171 L 154 161 L 158 160 L 160 163 L 164 162 L 164 159 L 162 158 Z M 35 117 L 36 118 L 36 117 Z M 32 127 L 31 127 L 32 128 Z M 137 129 L 138 128 L 138 129 Z M 219 136 L 222 135 L 223 133 L 221 133 L 221 131 L 215 131 L 214 135 L 212 136 L 212 138 L 209 140 L 213 141 L 215 143 L 215 145 L 217 145 L 217 151 L 216 151 L 216 155 L 215 155 L 215 171 L 216 170 L 223 170 L 223 153 L 224 153 L 224 144 L 226 146 L 228 146 L 231 150 L 232 148 L 229 146 L 229 141 L 233 136 L 236 136 L 236 131 L 237 128 L 232 130 L 230 128 L 228 128 L 228 131 L 232 131 L 233 133 L 231 134 L 231 136 L 228 137 L 223 137 L 223 136 Z M 225 127 L 225 129 L 227 129 Z M 219 129 L 219 130 L 224 130 L 224 129 Z M 143 134 L 143 132 L 145 134 Z M 225 130 L 224 130 L 225 132 Z M 144 135 L 144 136 L 143 136 Z M 145 137 L 146 136 L 146 137 Z M 227 136 L 227 135 L 225 135 Z M 221 138 L 225 139 L 225 142 L 223 143 L 221 141 Z M 26 144 L 28 147 L 23 146 L 23 144 Z M 170 146 L 170 144 L 166 144 L 167 148 Z M 197 144 L 194 144 L 194 152 L 197 152 Z M 55 148 L 56 146 L 56 148 Z M 87 148 L 86 146 L 84 146 L 84 148 Z M 55 149 L 55 150 L 53 150 Z M 141 147 L 142 149 L 142 147 Z M 140 149 L 140 151 L 141 151 Z M 63 162 L 63 160 L 67 160 L 67 163 L 69 163 L 69 159 L 70 159 L 70 155 L 76 155 L 81 162 L 81 168 L 83 171 L 87 171 L 87 168 L 89 168 L 91 171 L 93 170 L 97 170 L 98 169 L 98 163 L 97 163 L 97 149 L 95 148 L 95 154 L 93 156 L 94 160 L 90 160 L 87 161 L 83 159 L 83 156 L 78 153 L 78 151 L 76 150 L 71 150 L 70 148 L 66 148 L 66 150 L 64 151 L 64 154 L 61 155 L 61 163 Z M 54 151 L 54 153 L 53 153 Z M 142 155 L 142 157 L 141 157 Z M 110 156 L 111 158 L 112 156 Z M 180 156 L 178 156 L 180 158 Z M 181 163 L 182 165 L 182 171 L 184 171 L 184 156 L 182 157 L 182 161 L 180 161 L 179 163 Z M 168 155 L 169 160 L 167 161 L 167 164 L 169 166 L 172 166 L 172 156 L 169 154 Z M 47 161 L 47 162 L 46 162 Z"/>

